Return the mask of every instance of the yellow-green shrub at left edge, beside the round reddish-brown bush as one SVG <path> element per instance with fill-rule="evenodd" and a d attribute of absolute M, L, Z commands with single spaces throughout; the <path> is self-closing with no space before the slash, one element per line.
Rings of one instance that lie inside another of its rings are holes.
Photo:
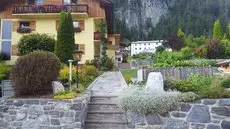
<path fill-rule="evenodd" d="M 12 70 L 11 66 L 0 63 L 0 81 L 8 79 Z"/>

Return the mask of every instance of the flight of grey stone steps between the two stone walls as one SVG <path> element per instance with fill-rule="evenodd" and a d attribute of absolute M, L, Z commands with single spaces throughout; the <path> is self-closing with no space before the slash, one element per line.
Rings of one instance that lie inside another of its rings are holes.
<path fill-rule="evenodd" d="M 117 96 L 91 96 L 85 129 L 129 129 Z"/>

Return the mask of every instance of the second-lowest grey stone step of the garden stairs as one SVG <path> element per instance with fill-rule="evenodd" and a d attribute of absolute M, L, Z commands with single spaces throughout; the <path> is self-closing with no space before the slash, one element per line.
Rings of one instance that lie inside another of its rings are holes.
<path fill-rule="evenodd" d="M 122 112 L 89 112 L 87 114 L 87 120 L 94 121 L 127 121 L 125 113 Z"/>

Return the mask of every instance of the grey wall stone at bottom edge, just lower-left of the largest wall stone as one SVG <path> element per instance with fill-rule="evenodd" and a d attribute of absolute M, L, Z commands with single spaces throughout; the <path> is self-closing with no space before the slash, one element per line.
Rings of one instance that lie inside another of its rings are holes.
<path fill-rule="evenodd" d="M 167 122 L 166 129 L 188 129 L 189 124 L 183 120 L 170 119 Z"/>

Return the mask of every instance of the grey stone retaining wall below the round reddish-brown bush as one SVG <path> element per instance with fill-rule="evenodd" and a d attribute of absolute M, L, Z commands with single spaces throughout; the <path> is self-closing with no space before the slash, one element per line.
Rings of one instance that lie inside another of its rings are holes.
<path fill-rule="evenodd" d="M 0 100 L 0 129 L 81 129 L 90 92 L 72 100 Z"/>

